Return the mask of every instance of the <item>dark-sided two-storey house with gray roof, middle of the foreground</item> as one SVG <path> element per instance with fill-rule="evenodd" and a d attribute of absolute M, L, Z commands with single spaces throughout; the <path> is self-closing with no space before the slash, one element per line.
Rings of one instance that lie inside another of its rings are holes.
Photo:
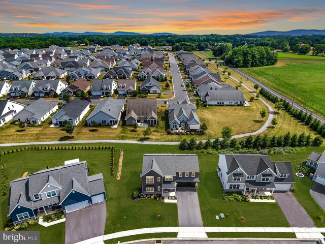
<path fill-rule="evenodd" d="M 199 173 L 196 154 L 145 154 L 140 174 L 142 193 L 169 197 L 179 188 L 196 189 Z"/>

